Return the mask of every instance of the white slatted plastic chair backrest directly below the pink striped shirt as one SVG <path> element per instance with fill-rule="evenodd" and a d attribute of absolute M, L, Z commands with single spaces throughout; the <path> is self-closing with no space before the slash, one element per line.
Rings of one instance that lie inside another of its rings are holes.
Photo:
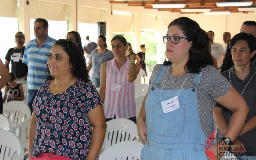
<path fill-rule="evenodd" d="M 129 119 L 112 119 L 107 122 L 104 150 L 110 146 L 128 140 L 139 139 L 137 125 Z"/>

